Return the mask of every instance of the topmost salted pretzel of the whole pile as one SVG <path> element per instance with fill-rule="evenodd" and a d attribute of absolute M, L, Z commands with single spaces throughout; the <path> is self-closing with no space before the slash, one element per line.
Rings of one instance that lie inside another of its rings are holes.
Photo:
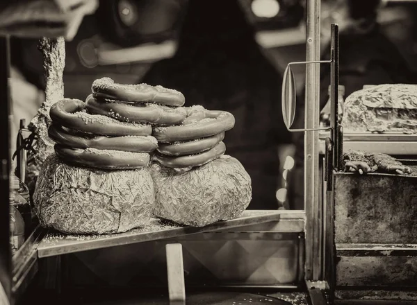
<path fill-rule="evenodd" d="M 92 82 L 92 93 L 101 98 L 131 103 L 153 102 L 168 106 L 182 106 L 186 98 L 174 89 L 147 84 L 122 85 L 111 78 L 99 78 Z"/>

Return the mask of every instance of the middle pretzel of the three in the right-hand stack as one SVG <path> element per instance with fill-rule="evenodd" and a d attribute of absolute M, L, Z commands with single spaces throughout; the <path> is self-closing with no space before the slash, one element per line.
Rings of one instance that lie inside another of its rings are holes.
<path fill-rule="evenodd" d="M 218 143 L 223 141 L 224 132 L 221 134 L 215 134 L 214 136 L 197 139 L 194 141 L 186 141 L 179 143 L 159 143 L 158 153 L 168 156 L 183 156 L 183 155 L 194 155 L 202 153 L 216 146 Z"/>

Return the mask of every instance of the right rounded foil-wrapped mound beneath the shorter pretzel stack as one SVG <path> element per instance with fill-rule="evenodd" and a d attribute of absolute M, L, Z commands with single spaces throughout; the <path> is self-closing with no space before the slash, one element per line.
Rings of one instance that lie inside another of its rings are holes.
<path fill-rule="evenodd" d="M 189 171 L 153 164 L 151 175 L 154 216 L 183 225 L 204 227 L 238 218 L 252 200 L 250 175 L 228 155 Z"/>

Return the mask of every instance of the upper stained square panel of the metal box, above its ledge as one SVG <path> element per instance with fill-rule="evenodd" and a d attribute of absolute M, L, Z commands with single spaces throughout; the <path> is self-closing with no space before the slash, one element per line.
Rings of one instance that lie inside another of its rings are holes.
<path fill-rule="evenodd" d="M 417 243 L 417 175 L 335 173 L 334 183 L 336 243 Z"/>

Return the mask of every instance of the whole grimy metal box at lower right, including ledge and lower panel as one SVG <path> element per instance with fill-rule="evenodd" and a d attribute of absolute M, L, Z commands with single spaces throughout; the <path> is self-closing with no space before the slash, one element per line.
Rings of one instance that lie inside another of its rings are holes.
<path fill-rule="evenodd" d="M 336 286 L 343 290 L 417 288 L 417 162 L 403 163 L 414 175 L 334 174 Z"/>

